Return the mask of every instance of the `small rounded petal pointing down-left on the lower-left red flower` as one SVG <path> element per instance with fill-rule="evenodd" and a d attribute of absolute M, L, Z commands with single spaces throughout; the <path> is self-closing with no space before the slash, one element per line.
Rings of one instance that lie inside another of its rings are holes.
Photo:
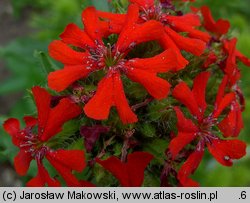
<path fill-rule="evenodd" d="M 32 160 L 32 157 L 30 153 L 25 152 L 25 150 L 20 150 L 19 153 L 16 155 L 14 159 L 14 166 L 15 166 L 16 172 L 20 176 L 26 175 L 30 167 L 31 160 Z"/>

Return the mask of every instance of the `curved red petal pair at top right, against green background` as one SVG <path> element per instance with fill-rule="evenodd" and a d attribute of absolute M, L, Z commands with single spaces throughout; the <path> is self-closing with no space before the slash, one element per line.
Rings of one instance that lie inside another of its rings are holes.
<path fill-rule="evenodd" d="M 228 32 L 230 28 L 228 20 L 219 19 L 218 21 L 215 21 L 207 6 L 202 6 L 200 10 L 204 20 L 204 27 L 207 31 L 213 32 L 219 36 Z"/>

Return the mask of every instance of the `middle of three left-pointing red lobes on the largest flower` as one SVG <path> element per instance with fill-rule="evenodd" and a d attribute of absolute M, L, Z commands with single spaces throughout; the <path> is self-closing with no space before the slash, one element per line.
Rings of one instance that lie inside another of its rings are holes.
<path fill-rule="evenodd" d="M 52 58 L 65 65 L 81 65 L 87 60 L 87 53 L 77 52 L 65 43 L 55 40 L 49 45 L 49 54 Z"/>

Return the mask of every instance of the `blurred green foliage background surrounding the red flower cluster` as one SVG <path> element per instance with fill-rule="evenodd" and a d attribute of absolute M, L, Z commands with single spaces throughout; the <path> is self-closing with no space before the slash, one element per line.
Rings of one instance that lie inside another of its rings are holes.
<path fill-rule="evenodd" d="M 88 5 L 109 10 L 107 0 L 0 0 L 0 124 L 8 117 L 22 118 L 35 111 L 29 95 L 33 85 L 46 86 L 48 44 L 58 39 L 70 22 L 80 27 L 81 11 Z M 231 22 L 231 35 L 238 49 L 250 57 L 250 0 L 197 0 L 195 6 L 209 5 L 215 19 Z M 188 5 L 187 5 L 188 8 Z M 43 61 L 43 62 L 42 62 Z M 250 143 L 250 69 L 241 64 L 241 87 L 247 100 L 243 114 L 245 128 L 240 139 Z M 23 185 L 11 163 L 17 149 L 0 128 L 0 186 Z M 250 186 L 248 155 L 231 168 L 222 167 L 206 156 L 194 178 L 202 186 Z"/>

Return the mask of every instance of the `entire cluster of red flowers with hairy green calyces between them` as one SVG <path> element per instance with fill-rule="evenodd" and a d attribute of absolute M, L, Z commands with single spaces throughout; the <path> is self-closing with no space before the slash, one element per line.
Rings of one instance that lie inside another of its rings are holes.
<path fill-rule="evenodd" d="M 250 59 L 228 37 L 229 22 L 206 6 L 184 14 L 180 1 L 129 2 L 125 14 L 88 7 L 83 29 L 69 24 L 49 45 L 63 64 L 48 75 L 57 95 L 33 87 L 37 117 L 24 117 L 24 128 L 5 121 L 20 149 L 17 173 L 37 164 L 27 186 L 152 186 L 152 177 L 197 186 L 190 175 L 206 148 L 224 166 L 246 154 L 238 62 Z M 62 143 L 72 119 L 79 125 Z"/>

